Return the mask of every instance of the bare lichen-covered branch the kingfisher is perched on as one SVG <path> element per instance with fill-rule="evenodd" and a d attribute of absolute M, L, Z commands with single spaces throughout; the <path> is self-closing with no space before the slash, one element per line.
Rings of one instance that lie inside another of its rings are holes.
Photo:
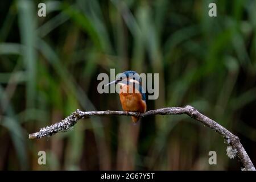
<path fill-rule="evenodd" d="M 205 126 L 210 127 L 217 133 L 221 134 L 222 137 L 225 138 L 225 142 L 229 145 L 227 147 L 227 155 L 229 158 L 234 158 L 236 154 L 241 159 L 245 170 L 255 171 L 255 167 L 251 162 L 249 156 L 247 155 L 245 149 L 243 148 L 242 144 L 240 143 L 239 138 L 232 134 L 229 130 L 225 129 L 225 127 L 221 126 L 217 122 L 213 121 L 212 119 L 206 117 L 205 115 L 201 114 L 192 106 L 185 106 L 185 107 L 166 107 L 162 109 L 150 110 L 146 113 L 134 113 L 134 112 L 125 112 L 125 111 L 80 111 L 77 110 L 69 117 L 65 118 L 63 121 L 59 123 L 55 123 L 54 125 L 44 127 L 40 129 L 40 131 L 30 134 L 29 139 L 34 138 L 42 138 L 42 137 L 50 137 L 56 133 L 61 131 L 67 131 L 73 125 L 76 124 L 79 119 L 88 118 L 90 115 L 133 115 L 136 117 L 146 117 L 148 115 L 167 115 L 167 114 L 187 114 L 189 117 L 196 119 L 197 121 L 203 123 Z"/>

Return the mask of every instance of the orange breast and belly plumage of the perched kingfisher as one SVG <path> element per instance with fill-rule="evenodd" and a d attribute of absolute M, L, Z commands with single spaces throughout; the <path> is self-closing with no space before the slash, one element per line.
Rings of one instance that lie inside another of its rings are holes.
<path fill-rule="evenodd" d="M 123 85 L 121 87 L 119 97 L 125 111 L 135 111 L 139 113 L 146 112 L 146 102 L 142 100 L 141 93 L 128 93 L 129 85 Z"/>

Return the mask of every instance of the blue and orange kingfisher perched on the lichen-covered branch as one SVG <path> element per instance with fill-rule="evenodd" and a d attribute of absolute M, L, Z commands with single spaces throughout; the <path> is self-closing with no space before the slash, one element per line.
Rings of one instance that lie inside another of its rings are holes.
<path fill-rule="evenodd" d="M 109 84 L 105 86 L 112 84 L 120 86 L 119 98 L 123 110 L 126 112 L 146 112 L 146 94 L 142 88 L 142 81 L 137 72 L 125 71 L 117 76 L 116 80 L 109 82 Z M 131 119 L 134 123 L 139 121 L 139 117 L 132 116 Z"/>

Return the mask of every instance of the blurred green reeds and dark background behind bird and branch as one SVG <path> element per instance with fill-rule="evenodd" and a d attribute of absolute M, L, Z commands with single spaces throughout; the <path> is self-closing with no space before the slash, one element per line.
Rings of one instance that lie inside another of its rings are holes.
<path fill-rule="evenodd" d="M 186 115 L 92 117 L 28 133 L 76 109 L 121 110 L 97 75 L 159 73 L 147 109 L 195 106 L 238 135 L 256 164 L 256 1 L 0 2 L 0 169 L 240 169 L 218 134 Z M 208 16 L 210 2 L 217 17 Z M 47 165 L 38 164 L 38 151 Z M 208 152 L 217 152 L 217 165 Z"/>

